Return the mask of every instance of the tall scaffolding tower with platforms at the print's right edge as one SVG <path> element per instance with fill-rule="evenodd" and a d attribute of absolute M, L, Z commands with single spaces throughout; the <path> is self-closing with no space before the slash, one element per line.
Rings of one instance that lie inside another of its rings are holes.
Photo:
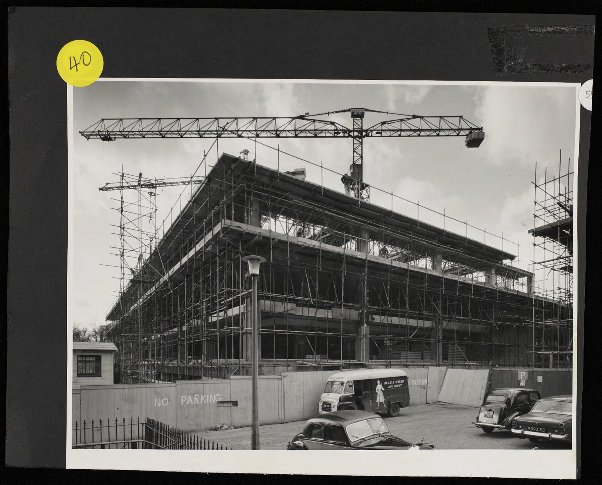
<path fill-rule="evenodd" d="M 533 270 L 541 299 L 553 302 L 533 319 L 532 367 L 571 367 L 573 362 L 573 170 L 568 159 L 563 173 L 544 171 L 538 181 L 535 166 Z M 535 305 L 534 305 L 535 307 Z M 542 309 L 543 310 L 543 309 Z"/>

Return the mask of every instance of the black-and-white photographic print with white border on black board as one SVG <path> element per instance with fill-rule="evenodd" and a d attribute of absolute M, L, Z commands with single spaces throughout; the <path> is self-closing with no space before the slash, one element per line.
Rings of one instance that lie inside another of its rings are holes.
<path fill-rule="evenodd" d="M 238 451 L 399 450 L 403 468 L 351 471 L 407 474 L 420 450 L 428 475 L 453 461 L 439 450 L 511 450 L 528 477 L 569 476 L 579 90 L 70 89 L 69 463 L 219 450 L 187 466 L 238 472 Z M 433 474 L 470 474 L 447 466 Z"/>

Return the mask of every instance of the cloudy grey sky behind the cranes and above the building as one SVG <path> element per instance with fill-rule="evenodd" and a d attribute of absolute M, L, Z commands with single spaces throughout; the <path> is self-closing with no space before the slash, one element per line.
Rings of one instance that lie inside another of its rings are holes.
<path fill-rule="evenodd" d="M 313 82 L 176 82 L 99 80 L 73 88 L 70 151 L 70 262 L 69 319 L 83 326 L 105 323 L 105 315 L 119 290 L 119 192 L 100 192 L 116 182 L 117 172 L 143 172 L 144 177 L 185 177 L 198 170 L 203 152 L 213 165 L 219 153 L 237 155 L 246 148 L 260 165 L 306 168 L 307 179 L 344 192 L 340 175 L 352 161 L 350 139 L 272 139 L 261 144 L 245 139 L 145 139 L 114 142 L 86 141 L 78 134 L 101 118 L 141 117 L 272 117 L 305 112 L 363 107 L 424 116 L 463 115 L 483 126 L 485 141 L 465 148 L 464 137 L 369 138 L 364 141 L 364 181 L 371 186 L 370 200 L 445 228 L 465 233 L 464 222 L 478 229 L 468 237 L 517 255 L 512 264 L 531 269 L 533 185 L 535 164 L 541 181 L 544 169 L 557 174 L 562 150 L 563 173 L 575 160 L 577 123 L 575 85 L 561 84 L 407 84 Z M 326 117 L 324 117 L 326 118 Z M 367 113 L 364 127 L 396 118 Z M 351 127 L 349 113 L 326 118 Z M 269 145 L 265 147 L 264 145 Z M 270 148 L 272 147 L 272 148 Z M 219 152 L 218 152 L 219 150 Z M 320 163 L 336 172 L 323 171 Z M 378 190 L 380 189 L 380 191 Z M 382 191 L 382 192 L 381 192 Z M 159 189 L 157 226 L 179 212 L 190 188 Z M 136 197 L 126 191 L 126 197 Z M 420 203 L 418 213 L 417 203 Z M 425 207 L 432 209 L 429 212 Z M 493 236 L 495 234 L 496 236 Z M 502 236 L 503 235 L 503 239 Z M 161 233 L 159 234 L 161 236 Z M 113 254 L 112 254 L 113 253 Z"/>

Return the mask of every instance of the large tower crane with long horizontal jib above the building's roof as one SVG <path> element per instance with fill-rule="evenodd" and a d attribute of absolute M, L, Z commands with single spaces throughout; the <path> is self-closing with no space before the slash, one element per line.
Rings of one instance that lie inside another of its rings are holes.
<path fill-rule="evenodd" d="M 318 118 L 345 112 L 351 115 L 351 128 Z M 364 128 L 366 112 L 395 115 L 398 118 Z M 368 108 L 347 108 L 316 114 L 306 112 L 294 117 L 103 118 L 79 133 L 88 140 L 102 141 L 115 141 L 117 138 L 351 138 L 352 163 L 341 181 L 347 195 L 366 201 L 370 197 L 370 186 L 364 183 L 362 171 L 364 138 L 464 136 L 468 148 L 479 147 L 485 138 L 482 127 L 461 115 L 404 115 Z"/>

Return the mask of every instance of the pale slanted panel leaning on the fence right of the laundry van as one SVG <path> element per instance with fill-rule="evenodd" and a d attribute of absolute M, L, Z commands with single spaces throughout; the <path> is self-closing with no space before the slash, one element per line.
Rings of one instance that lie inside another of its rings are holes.
<path fill-rule="evenodd" d="M 479 407 L 487 389 L 489 370 L 448 369 L 439 401 Z"/>

